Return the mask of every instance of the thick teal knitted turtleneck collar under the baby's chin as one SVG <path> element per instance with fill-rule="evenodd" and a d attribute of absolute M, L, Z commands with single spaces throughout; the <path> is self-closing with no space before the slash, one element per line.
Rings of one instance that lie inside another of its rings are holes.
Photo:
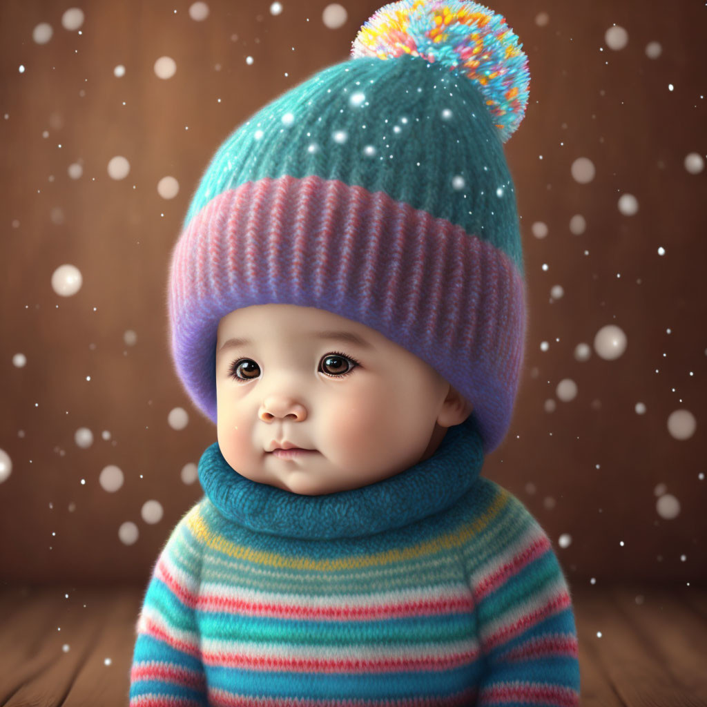
<path fill-rule="evenodd" d="M 199 483 L 224 518 L 250 530 L 308 539 L 371 535 L 409 525 L 456 503 L 477 480 L 484 452 L 474 416 L 448 428 L 436 452 L 360 489 L 306 496 L 241 476 L 218 442 L 199 460 Z"/>

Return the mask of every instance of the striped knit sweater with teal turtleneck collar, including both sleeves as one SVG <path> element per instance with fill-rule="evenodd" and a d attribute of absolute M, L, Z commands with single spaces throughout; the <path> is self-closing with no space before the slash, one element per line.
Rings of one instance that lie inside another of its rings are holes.
<path fill-rule="evenodd" d="M 578 705 L 566 578 L 483 458 L 463 423 L 390 479 L 301 496 L 211 445 L 144 595 L 130 707 Z"/>

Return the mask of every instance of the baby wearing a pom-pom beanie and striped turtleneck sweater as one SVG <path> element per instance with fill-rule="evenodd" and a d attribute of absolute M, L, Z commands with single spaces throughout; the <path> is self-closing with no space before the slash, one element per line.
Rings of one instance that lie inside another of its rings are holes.
<path fill-rule="evenodd" d="M 153 568 L 131 707 L 578 705 L 551 542 L 480 475 L 525 339 L 517 40 L 473 2 L 387 5 L 211 160 L 168 307 L 218 440 Z"/>

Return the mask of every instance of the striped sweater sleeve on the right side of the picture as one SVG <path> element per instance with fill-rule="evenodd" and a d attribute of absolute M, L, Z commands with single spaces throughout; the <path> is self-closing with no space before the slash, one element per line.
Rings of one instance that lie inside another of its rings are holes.
<path fill-rule="evenodd" d="M 575 707 L 578 641 L 570 592 L 542 527 L 498 484 L 479 533 L 471 588 L 483 673 L 479 707 Z"/>

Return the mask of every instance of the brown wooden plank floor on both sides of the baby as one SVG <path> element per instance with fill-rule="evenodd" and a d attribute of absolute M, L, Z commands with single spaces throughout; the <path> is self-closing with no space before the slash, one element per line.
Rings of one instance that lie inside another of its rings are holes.
<path fill-rule="evenodd" d="M 0 586 L 0 705 L 127 707 L 143 591 Z M 571 593 L 583 707 L 707 707 L 707 588 Z"/>

